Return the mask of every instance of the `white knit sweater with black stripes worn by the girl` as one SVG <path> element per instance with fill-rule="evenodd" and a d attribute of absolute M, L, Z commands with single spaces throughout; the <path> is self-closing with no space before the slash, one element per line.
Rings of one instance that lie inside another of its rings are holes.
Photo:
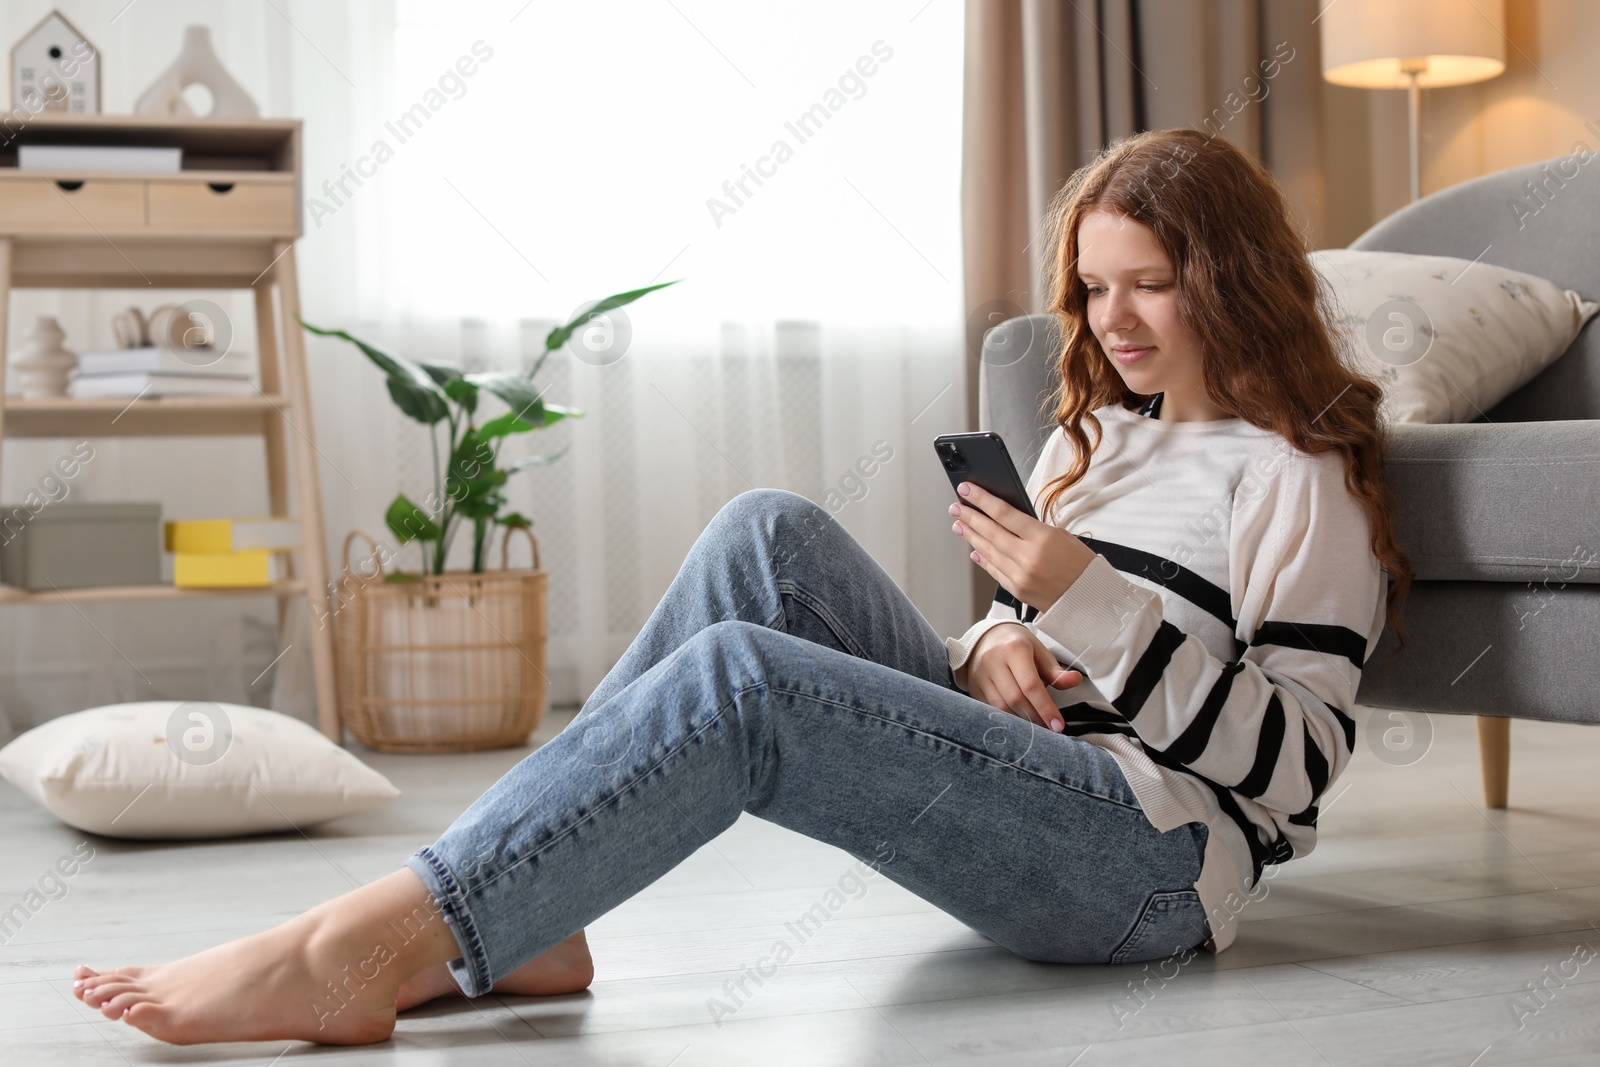
<path fill-rule="evenodd" d="M 1206 824 L 1195 889 L 1205 947 L 1221 952 L 1262 869 L 1317 843 L 1317 806 L 1355 747 L 1386 576 L 1338 453 L 1238 418 L 1166 422 L 1158 403 L 1094 411 L 1102 440 L 1048 520 L 1096 552 L 1083 574 L 1043 611 L 997 589 L 946 646 L 955 670 L 984 632 L 1022 624 L 1083 672 L 1046 689 L 1062 733 L 1110 752 L 1157 830 Z M 1042 517 L 1070 459 L 1058 429 L 1027 478 Z"/>

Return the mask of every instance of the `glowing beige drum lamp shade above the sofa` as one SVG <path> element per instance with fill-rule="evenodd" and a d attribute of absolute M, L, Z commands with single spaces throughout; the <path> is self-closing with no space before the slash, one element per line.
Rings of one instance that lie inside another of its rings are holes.
<path fill-rule="evenodd" d="M 1323 8 L 1322 77 L 1363 90 L 1466 85 L 1506 69 L 1506 0 L 1336 0 Z"/>

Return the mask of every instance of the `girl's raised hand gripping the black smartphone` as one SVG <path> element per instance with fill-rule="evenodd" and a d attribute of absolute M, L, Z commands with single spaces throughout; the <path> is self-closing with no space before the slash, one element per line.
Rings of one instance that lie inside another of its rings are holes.
<path fill-rule="evenodd" d="M 973 561 L 1030 608 L 1048 609 L 1094 558 L 1061 526 L 1011 507 L 981 485 L 962 482 L 957 493 L 965 502 L 950 504 L 950 528 L 973 547 Z"/>

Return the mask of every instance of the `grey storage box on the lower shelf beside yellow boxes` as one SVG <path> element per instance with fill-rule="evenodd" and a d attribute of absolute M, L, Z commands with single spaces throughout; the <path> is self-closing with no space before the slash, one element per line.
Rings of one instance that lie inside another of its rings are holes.
<path fill-rule="evenodd" d="M 158 585 L 162 506 L 0 506 L 0 582 L 32 592 Z"/>

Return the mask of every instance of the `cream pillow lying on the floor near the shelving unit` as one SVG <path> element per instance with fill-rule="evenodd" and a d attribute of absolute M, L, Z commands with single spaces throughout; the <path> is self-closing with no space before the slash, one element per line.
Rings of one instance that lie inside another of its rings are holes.
<path fill-rule="evenodd" d="M 53 718 L 0 749 L 0 774 L 62 822 L 128 838 L 291 830 L 400 795 L 298 718 L 211 701 Z"/>

